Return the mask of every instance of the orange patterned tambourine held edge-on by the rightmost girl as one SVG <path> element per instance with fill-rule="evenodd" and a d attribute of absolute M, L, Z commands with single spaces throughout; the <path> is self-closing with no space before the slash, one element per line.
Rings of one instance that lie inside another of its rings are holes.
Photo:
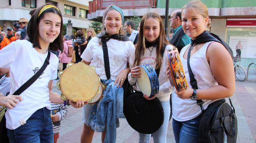
<path fill-rule="evenodd" d="M 173 50 L 166 50 L 166 55 L 176 90 L 181 91 L 187 89 L 187 79 L 180 61 L 178 49 L 174 48 Z"/>

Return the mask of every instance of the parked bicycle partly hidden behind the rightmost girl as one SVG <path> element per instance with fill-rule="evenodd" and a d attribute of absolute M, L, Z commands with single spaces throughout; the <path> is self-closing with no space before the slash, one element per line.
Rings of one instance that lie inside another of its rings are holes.
<path fill-rule="evenodd" d="M 247 79 L 247 73 L 245 68 L 243 68 L 241 65 L 236 64 L 236 62 L 241 61 L 240 56 L 238 53 L 236 53 L 236 56 L 234 57 L 234 71 L 235 71 L 235 77 L 240 81 L 245 81 Z"/>

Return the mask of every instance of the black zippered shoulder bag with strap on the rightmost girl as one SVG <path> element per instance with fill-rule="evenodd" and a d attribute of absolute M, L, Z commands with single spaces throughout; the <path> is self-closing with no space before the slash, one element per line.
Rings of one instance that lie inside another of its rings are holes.
<path fill-rule="evenodd" d="M 197 37 L 198 38 L 198 37 Z M 191 70 L 189 59 L 193 42 L 188 50 L 187 67 L 190 83 L 193 89 L 198 89 L 197 82 Z M 203 108 L 203 101 L 196 100 L 197 105 L 201 107 L 202 117 L 199 124 L 199 142 L 200 143 L 235 143 L 237 137 L 237 119 L 235 109 L 230 100 L 230 105 L 225 99 L 212 102 L 206 110 Z"/>

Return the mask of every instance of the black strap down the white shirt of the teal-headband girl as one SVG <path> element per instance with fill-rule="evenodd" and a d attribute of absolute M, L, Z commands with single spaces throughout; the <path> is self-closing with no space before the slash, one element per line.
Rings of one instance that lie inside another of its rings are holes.
<path fill-rule="evenodd" d="M 108 46 L 107 46 L 108 40 L 109 39 L 101 38 L 105 72 L 106 72 L 107 79 L 110 79 L 110 66 L 109 66 Z"/>

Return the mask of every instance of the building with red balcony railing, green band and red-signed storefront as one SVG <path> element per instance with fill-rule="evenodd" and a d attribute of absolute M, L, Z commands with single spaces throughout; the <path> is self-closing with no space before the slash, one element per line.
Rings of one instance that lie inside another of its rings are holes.
<path fill-rule="evenodd" d="M 169 16 L 181 9 L 189 0 L 169 0 Z M 165 18 L 166 0 L 93 0 L 89 1 L 88 19 L 102 21 L 104 9 L 109 5 L 123 9 L 125 18 L 135 13 L 143 16 L 146 12 L 157 12 Z M 239 41 L 241 50 L 240 65 L 247 67 L 256 62 L 256 0 L 202 0 L 208 7 L 211 19 L 210 32 L 224 39 L 232 48 L 234 56 Z"/>

